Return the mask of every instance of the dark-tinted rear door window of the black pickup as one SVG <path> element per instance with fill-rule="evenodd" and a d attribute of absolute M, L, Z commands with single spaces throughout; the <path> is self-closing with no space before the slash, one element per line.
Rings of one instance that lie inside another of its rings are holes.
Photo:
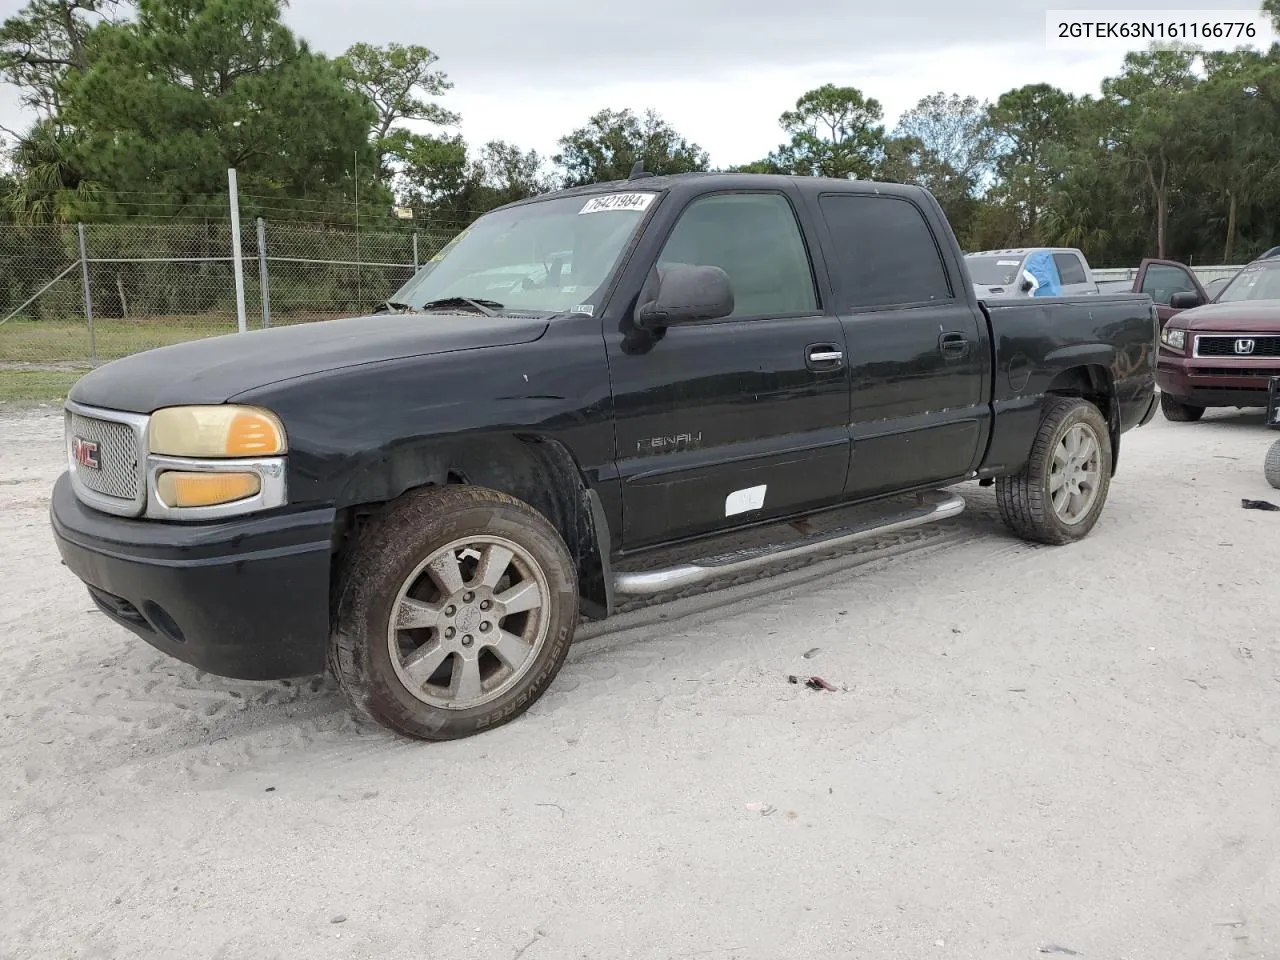
<path fill-rule="evenodd" d="M 842 308 L 951 298 L 933 232 L 915 204 L 849 193 L 818 204 L 831 230 Z"/>

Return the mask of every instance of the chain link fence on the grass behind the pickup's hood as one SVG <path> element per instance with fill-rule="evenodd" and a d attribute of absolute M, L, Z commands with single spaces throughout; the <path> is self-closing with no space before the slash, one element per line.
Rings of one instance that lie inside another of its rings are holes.
<path fill-rule="evenodd" d="M 465 224 L 248 219 L 247 329 L 367 312 Z M 0 225 L 0 366 L 84 370 L 239 329 L 229 220 Z"/>

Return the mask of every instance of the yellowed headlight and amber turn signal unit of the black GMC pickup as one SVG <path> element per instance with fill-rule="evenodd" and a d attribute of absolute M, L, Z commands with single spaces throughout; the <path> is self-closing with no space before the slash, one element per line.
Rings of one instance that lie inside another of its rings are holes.
<path fill-rule="evenodd" d="M 147 516 L 219 520 L 283 507 L 288 443 L 259 407 L 166 407 L 147 429 Z"/>

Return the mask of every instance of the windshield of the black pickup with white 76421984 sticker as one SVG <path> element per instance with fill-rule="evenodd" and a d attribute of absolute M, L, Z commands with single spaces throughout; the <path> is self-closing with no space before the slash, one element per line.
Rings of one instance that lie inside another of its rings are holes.
<path fill-rule="evenodd" d="M 485 214 L 390 300 L 421 308 L 467 297 L 500 303 L 499 314 L 572 310 L 608 279 L 655 196 L 558 197 Z"/>

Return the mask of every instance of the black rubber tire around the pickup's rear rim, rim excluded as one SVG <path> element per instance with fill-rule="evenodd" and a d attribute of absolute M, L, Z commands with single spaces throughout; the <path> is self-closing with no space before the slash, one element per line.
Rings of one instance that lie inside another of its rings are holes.
<path fill-rule="evenodd" d="M 1069 524 L 1053 508 L 1050 475 L 1053 452 L 1078 424 L 1089 428 L 1098 445 L 1097 495 L 1088 512 L 1078 522 Z M 1111 434 L 1097 407 L 1074 397 L 1050 398 L 1027 466 L 1015 476 L 996 479 L 996 504 L 1001 520 L 1014 534 L 1032 543 L 1059 547 L 1084 539 L 1098 522 L 1111 489 Z"/>

